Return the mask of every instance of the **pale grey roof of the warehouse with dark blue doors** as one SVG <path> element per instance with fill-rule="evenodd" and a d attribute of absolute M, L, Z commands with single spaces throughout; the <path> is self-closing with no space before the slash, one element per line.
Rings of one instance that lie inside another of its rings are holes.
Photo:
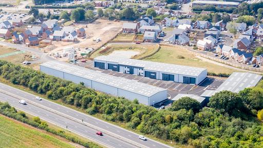
<path fill-rule="evenodd" d="M 106 55 L 98 56 L 95 58 L 95 60 L 116 62 L 119 65 L 140 67 L 140 68 L 144 68 L 144 70 L 160 71 L 165 73 L 181 74 L 181 75 L 194 76 L 194 77 L 197 77 L 203 71 L 206 71 L 206 69 L 204 68 L 165 64 L 161 62 L 130 59 L 130 58 L 112 57 Z"/>

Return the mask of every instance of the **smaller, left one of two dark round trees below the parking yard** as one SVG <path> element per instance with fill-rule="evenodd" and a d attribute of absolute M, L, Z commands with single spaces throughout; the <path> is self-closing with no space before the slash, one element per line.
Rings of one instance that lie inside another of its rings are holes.
<path fill-rule="evenodd" d="M 178 111 L 181 109 L 192 110 L 197 113 L 201 109 L 201 103 L 190 97 L 182 97 L 172 104 L 171 110 Z"/>

